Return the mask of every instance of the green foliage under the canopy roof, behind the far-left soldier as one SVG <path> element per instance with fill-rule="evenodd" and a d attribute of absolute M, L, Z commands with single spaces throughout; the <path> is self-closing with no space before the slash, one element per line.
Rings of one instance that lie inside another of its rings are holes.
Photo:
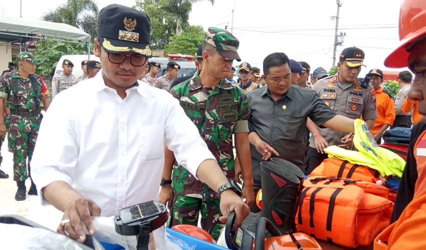
<path fill-rule="evenodd" d="M 84 54 L 86 44 L 59 40 L 40 40 L 36 44 L 34 56 L 40 58 L 37 62 L 36 73 L 41 76 L 51 76 L 58 60 L 64 54 Z"/>

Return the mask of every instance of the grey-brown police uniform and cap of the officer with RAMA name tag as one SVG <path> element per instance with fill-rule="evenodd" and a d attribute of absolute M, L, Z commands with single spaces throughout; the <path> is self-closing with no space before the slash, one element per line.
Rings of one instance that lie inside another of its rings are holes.
<path fill-rule="evenodd" d="M 340 57 L 341 60 L 346 60 L 349 66 L 364 65 L 364 52 L 359 48 L 345 48 Z M 339 79 L 339 72 L 337 72 L 333 76 L 317 81 L 312 89 L 337 114 L 352 119 L 360 118 L 362 115 L 365 120 L 377 117 L 374 88 L 370 83 L 367 86 L 362 86 L 359 78 L 354 82 L 342 82 Z M 342 137 L 348 134 L 331 128 L 319 128 L 319 130 L 330 146 L 342 144 Z M 307 174 L 318 166 L 324 158 L 327 158 L 326 153 L 317 152 L 312 135 L 309 139 L 309 146 Z"/>

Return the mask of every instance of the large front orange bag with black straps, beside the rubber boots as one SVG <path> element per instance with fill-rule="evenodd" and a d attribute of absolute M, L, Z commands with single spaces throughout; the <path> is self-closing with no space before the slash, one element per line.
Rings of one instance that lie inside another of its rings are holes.
<path fill-rule="evenodd" d="M 297 229 L 312 237 L 354 248 L 369 245 L 389 224 L 393 202 L 385 186 L 323 176 L 303 185 Z"/>

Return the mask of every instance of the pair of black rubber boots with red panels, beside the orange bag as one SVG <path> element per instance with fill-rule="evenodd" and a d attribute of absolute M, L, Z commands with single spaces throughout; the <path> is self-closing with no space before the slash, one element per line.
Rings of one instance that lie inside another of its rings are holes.
<path fill-rule="evenodd" d="M 287 160 L 280 160 L 280 164 L 261 162 L 260 170 L 261 216 L 270 219 L 282 234 L 295 232 L 295 216 L 303 189 L 302 170 Z"/>

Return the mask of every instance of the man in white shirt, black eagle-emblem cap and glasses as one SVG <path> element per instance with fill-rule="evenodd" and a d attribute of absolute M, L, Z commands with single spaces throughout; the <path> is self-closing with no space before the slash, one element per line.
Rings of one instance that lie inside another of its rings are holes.
<path fill-rule="evenodd" d="M 40 198 L 64 211 L 58 231 L 80 242 L 82 222 L 94 233 L 91 216 L 156 199 L 164 141 L 177 162 L 220 190 L 222 222 L 235 210 L 236 229 L 249 213 L 178 101 L 138 83 L 151 56 L 149 34 L 143 12 L 119 4 L 103 8 L 94 48 L 102 70 L 88 84 L 60 93 L 39 132 L 32 176 Z"/>

